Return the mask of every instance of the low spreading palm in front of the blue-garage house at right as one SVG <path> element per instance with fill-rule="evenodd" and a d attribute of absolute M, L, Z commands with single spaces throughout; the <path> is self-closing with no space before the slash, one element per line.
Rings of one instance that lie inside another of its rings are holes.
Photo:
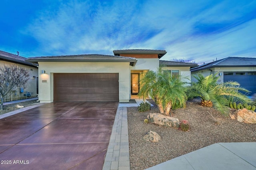
<path fill-rule="evenodd" d="M 188 94 L 192 97 L 200 97 L 203 106 L 214 106 L 223 114 L 228 113 L 229 100 L 236 99 L 241 103 L 252 104 L 253 102 L 239 91 L 248 93 L 249 91 L 240 87 L 238 82 L 228 81 L 224 83 L 217 83 L 219 77 L 218 73 L 204 77 L 201 73 L 194 75 L 198 82 L 192 83 L 188 90 Z"/>

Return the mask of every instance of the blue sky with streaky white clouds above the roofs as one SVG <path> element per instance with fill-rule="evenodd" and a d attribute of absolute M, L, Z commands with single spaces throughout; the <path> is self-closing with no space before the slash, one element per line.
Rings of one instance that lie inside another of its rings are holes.
<path fill-rule="evenodd" d="M 199 64 L 256 57 L 256 0 L 1 0 L 0 50 L 21 56 L 165 49 Z"/>

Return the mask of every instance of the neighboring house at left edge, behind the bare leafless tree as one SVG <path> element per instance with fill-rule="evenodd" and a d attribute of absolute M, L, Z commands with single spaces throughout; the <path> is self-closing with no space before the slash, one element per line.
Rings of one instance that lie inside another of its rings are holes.
<path fill-rule="evenodd" d="M 30 79 L 28 80 L 27 87 L 25 89 L 14 89 L 4 98 L 4 102 L 26 99 L 29 96 L 36 97 L 38 94 L 38 65 L 25 61 L 25 59 L 27 58 L 0 50 L 0 66 L 14 64 L 30 71 Z"/>

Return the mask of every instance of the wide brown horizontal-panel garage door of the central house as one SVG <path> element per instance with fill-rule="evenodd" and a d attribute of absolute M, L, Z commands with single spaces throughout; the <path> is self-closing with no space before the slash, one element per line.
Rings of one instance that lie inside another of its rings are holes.
<path fill-rule="evenodd" d="M 54 102 L 119 101 L 118 73 L 54 73 Z"/>

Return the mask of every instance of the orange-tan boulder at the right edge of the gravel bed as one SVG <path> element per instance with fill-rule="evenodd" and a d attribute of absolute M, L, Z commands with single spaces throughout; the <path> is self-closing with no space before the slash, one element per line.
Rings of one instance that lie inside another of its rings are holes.
<path fill-rule="evenodd" d="M 237 121 L 244 123 L 256 123 L 256 113 L 254 111 L 241 109 L 237 112 Z"/>

